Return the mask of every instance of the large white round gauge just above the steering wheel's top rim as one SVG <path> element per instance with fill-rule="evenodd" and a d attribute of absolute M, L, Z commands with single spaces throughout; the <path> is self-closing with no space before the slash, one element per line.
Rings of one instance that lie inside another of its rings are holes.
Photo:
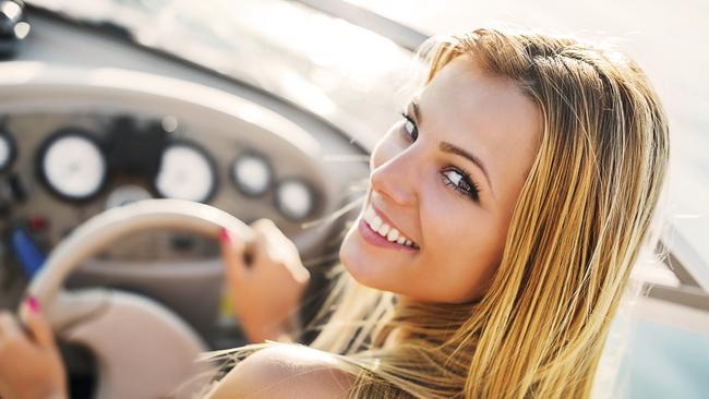
<path fill-rule="evenodd" d="M 163 152 L 155 189 L 160 196 L 207 202 L 217 186 L 217 174 L 206 153 L 193 144 L 177 143 Z"/>

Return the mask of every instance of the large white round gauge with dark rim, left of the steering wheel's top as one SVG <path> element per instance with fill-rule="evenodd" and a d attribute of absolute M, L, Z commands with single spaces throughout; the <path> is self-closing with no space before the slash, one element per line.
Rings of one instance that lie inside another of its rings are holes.
<path fill-rule="evenodd" d="M 47 186 L 68 200 L 88 200 L 106 181 L 106 158 L 96 141 L 76 130 L 55 134 L 39 155 L 39 172 Z"/>

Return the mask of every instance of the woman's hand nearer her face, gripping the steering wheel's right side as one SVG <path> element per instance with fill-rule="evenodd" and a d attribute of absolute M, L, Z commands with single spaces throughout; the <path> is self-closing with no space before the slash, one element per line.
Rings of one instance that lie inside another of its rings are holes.
<path fill-rule="evenodd" d="M 231 305 L 250 341 L 284 340 L 310 273 L 296 245 L 273 221 L 260 219 L 251 227 L 254 239 L 248 247 L 236 234 L 221 232 Z"/>

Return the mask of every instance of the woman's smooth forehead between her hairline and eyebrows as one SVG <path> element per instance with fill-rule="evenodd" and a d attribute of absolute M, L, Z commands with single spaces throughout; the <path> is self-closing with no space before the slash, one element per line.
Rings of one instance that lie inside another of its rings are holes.
<path fill-rule="evenodd" d="M 419 101 L 423 129 L 481 158 L 495 191 L 503 176 L 526 178 L 541 124 L 537 106 L 516 82 L 460 56 L 434 76 Z"/>

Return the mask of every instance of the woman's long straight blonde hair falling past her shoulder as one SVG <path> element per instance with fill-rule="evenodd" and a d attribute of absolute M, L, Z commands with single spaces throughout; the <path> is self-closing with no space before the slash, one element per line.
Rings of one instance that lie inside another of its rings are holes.
<path fill-rule="evenodd" d="M 543 119 L 486 293 L 397 303 L 341 274 L 312 347 L 338 353 L 356 375 L 351 397 L 588 398 L 651 237 L 666 117 L 642 71 L 611 49 L 481 28 L 425 44 L 425 83 L 461 55 L 516 82 Z"/>

